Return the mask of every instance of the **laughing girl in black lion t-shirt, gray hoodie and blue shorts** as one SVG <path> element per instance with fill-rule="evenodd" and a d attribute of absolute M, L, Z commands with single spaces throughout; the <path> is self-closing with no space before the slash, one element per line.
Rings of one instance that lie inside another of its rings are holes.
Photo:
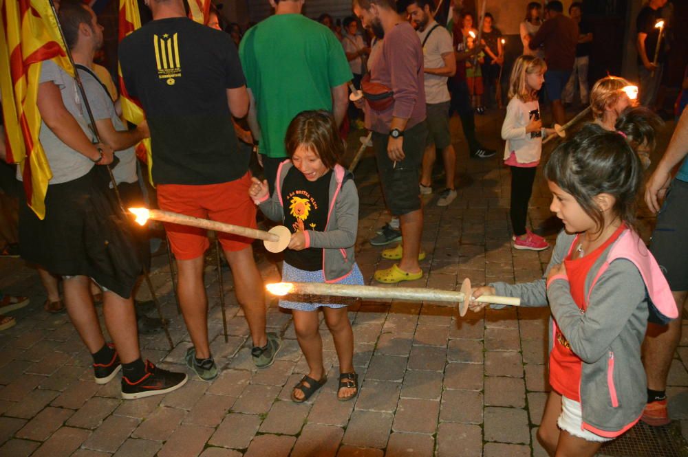
<path fill-rule="evenodd" d="M 268 218 L 281 221 L 292 231 L 284 254 L 282 280 L 363 285 L 353 249 L 358 228 L 358 192 L 352 175 L 337 163 L 344 146 L 332 114 L 303 111 L 289 125 L 285 142 L 291 160 L 279 165 L 272 197 L 268 181 L 253 178 L 249 189 L 250 197 Z M 345 401 L 358 393 L 358 375 L 353 366 L 354 335 L 347 304 L 339 297 L 293 294 L 279 301 L 279 306 L 292 310 L 299 346 L 310 370 L 294 386 L 293 401 L 307 400 L 327 381 L 318 330 L 319 309 L 323 309 L 339 359 L 337 398 Z"/>

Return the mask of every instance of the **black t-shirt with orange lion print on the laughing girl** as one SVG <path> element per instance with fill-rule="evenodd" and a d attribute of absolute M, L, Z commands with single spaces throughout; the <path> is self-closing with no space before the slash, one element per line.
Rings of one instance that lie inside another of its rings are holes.
<path fill-rule="evenodd" d="M 289 169 L 282 185 L 282 207 L 284 225 L 292 233 L 304 230 L 325 231 L 327 212 L 330 210 L 330 179 L 332 170 L 315 181 L 308 181 L 296 167 Z M 318 271 L 323 269 L 323 249 L 287 249 L 284 261 L 298 269 Z"/>

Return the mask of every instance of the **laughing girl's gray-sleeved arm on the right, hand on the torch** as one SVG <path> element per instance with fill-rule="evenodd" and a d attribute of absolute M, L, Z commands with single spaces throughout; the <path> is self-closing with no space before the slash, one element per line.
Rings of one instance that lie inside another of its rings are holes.
<path fill-rule="evenodd" d="M 358 232 L 358 192 L 353 180 L 346 181 L 334 203 L 337 230 L 316 232 L 305 230 L 305 247 L 337 249 L 352 247 L 356 244 Z"/>

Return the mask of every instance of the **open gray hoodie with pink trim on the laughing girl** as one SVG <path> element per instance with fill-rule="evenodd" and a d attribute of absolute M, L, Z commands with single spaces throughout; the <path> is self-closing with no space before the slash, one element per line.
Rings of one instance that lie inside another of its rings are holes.
<path fill-rule="evenodd" d="M 259 208 L 272 221 L 284 221 L 282 185 L 290 160 L 277 168 L 277 186 L 272 197 L 259 202 Z M 354 245 L 358 232 L 358 191 L 353 175 L 343 166 L 334 166 L 330 181 L 330 209 L 324 232 L 305 230 L 305 247 L 323 248 L 323 274 L 325 282 L 337 282 L 351 273 L 356 260 Z"/>

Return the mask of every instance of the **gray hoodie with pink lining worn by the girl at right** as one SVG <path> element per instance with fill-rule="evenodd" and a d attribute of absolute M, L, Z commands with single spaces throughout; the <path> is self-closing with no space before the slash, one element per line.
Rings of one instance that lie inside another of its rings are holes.
<path fill-rule="evenodd" d="M 614 246 L 625 235 L 624 246 L 632 246 L 639 255 L 614 251 Z M 585 278 L 588 308 L 585 313 L 581 312 L 571 297 L 566 276 L 557 275 L 546 284 L 548 272 L 553 265 L 563 263 L 574 238 L 575 235 L 563 231 L 557 236 L 542 279 L 517 285 L 494 282 L 491 286 L 495 287 L 497 295 L 521 298 L 522 306 L 549 304 L 553 317 L 550 318 L 550 350 L 559 326 L 571 350 L 582 360 L 579 394 L 583 429 L 614 437 L 638 421 L 647 398 L 641 344 L 647 328 L 647 309 L 652 301 L 646 284 L 652 294 L 658 287 L 664 294 L 670 291 L 668 285 L 664 285 L 663 276 L 648 278 L 648 268 L 636 259 L 647 258 L 649 262 L 652 256 L 640 238 L 626 230 L 590 268 Z M 610 256 L 612 251 L 614 255 Z M 672 311 L 664 313 L 673 315 Z"/>

